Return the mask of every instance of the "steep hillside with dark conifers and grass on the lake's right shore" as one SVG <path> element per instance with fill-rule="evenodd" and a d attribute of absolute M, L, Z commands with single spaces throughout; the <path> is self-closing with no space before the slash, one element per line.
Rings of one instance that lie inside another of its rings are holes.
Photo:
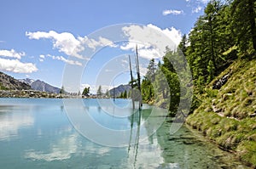
<path fill-rule="evenodd" d="M 150 60 L 142 82 L 143 100 L 175 115 L 180 101 L 177 70 L 183 54 L 193 80 L 190 125 L 256 166 L 256 1 L 212 0 L 176 51 L 166 48 L 159 63 Z M 176 63 L 177 64 L 177 63 Z M 185 68 L 186 69 L 186 68 Z M 162 90 L 164 74 L 168 89 Z M 161 91 L 162 90 L 162 91 Z M 170 100 L 167 98 L 171 97 Z"/>

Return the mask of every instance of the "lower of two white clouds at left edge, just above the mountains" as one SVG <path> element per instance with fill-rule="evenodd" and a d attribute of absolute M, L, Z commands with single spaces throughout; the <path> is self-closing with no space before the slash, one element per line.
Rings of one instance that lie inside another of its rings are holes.
<path fill-rule="evenodd" d="M 22 63 L 18 59 L 1 59 L 0 70 L 12 71 L 15 73 L 32 73 L 38 68 L 32 63 Z"/>

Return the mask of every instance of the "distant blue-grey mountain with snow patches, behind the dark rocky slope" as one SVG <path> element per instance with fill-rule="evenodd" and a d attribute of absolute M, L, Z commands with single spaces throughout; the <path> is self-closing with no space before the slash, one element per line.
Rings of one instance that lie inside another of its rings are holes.
<path fill-rule="evenodd" d="M 53 87 L 49 85 L 46 82 L 40 81 L 40 80 L 33 80 L 33 79 L 20 79 L 20 82 L 26 82 L 26 84 L 30 85 L 32 89 L 42 91 L 42 92 L 48 92 L 48 93 L 60 93 L 60 88 Z"/>

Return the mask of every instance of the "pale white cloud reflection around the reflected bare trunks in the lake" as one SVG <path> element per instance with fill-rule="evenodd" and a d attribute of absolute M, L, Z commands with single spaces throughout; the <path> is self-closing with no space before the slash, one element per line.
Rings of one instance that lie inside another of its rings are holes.
<path fill-rule="evenodd" d="M 162 157 L 162 150 L 159 147 L 157 138 L 155 135 L 152 135 L 152 131 L 156 130 L 158 125 L 150 123 L 152 120 L 157 120 L 154 118 L 150 119 L 150 113 L 150 109 L 137 110 L 129 117 L 131 128 L 133 128 L 134 123 L 136 123 L 137 125 L 135 127 L 137 130 L 131 130 L 131 137 L 135 137 L 135 141 L 134 144 L 131 144 L 130 142 L 127 148 L 128 163 L 132 164 L 132 168 L 179 168 L 177 163 L 163 165 L 164 158 Z M 148 122 L 150 125 L 148 125 Z M 142 127 L 145 127 L 147 130 L 148 139 L 140 141 Z M 136 131 L 136 133 L 132 133 L 132 131 Z"/>

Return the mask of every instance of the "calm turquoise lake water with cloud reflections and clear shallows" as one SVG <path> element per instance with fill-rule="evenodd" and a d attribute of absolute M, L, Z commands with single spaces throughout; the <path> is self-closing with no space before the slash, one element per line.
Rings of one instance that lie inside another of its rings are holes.
<path fill-rule="evenodd" d="M 162 118 L 149 116 L 150 106 L 144 105 L 141 115 L 135 113 L 131 118 L 127 100 L 115 103 L 125 108 L 121 113 L 104 100 L 101 105 L 96 99 L 79 101 L 84 103 L 83 110 L 103 127 L 139 128 L 130 132 L 131 144 L 113 148 L 84 138 L 69 121 L 61 99 L 0 99 L 0 167 L 246 168 L 233 155 L 205 142 L 186 127 L 171 135 L 171 123 L 164 122 L 150 136 L 157 126 L 154 121 Z M 114 118 L 114 113 L 119 117 Z"/>

